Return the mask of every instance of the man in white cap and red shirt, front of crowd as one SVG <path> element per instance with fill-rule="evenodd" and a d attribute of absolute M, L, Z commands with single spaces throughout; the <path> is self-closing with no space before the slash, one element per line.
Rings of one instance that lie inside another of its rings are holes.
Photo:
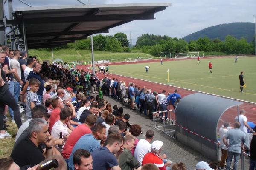
<path fill-rule="evenodd" d="M 145 154 L 142 166 L 144 164 L 155 164 L 159 168 L 159 170 L 171 170 L 171 167 L 169 167 L 169 162 L 163 163 L 163 159 L 160 157 L 161 148 L 163 146 L 162 141 L 154 141 L 151 145 L 151 152 Z"/>

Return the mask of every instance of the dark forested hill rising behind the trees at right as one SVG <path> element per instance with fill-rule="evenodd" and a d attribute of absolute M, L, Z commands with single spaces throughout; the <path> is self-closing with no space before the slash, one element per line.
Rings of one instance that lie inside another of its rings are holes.
<path fill-rule="evenodd" d="M 200 37 L 208 37 L 212 40 L 215 38 L 225 40 L 225 37 L 227 35 L 232 35 L 237 39 L 244 37 L 247 40 L 247 42 L 250 42 L 254 40 L 254 27 L 254 23 L 220 24 L 187 35 L 186 37 L 183 37 L 183 39 L 186 40 L 186 42 L 189 42 L 190 40 L 197 40 Z"/>

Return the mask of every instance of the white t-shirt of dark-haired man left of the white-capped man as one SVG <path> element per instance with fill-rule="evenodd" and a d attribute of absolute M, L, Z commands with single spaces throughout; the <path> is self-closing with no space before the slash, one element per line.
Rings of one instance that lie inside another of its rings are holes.
<path fill-rule="evenodd" d="M 140 166 L 145 154 L 149 152 L 151 152 L 151 144 L 145 139 L 140 139 L 134 151 L 134 158 L 140 162 Z"/>

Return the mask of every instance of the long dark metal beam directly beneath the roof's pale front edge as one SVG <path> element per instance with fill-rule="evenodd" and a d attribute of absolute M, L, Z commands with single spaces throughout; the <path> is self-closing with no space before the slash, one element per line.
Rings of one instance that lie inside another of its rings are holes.
<path fill-rule="evenodd" d="M 151 20 L 154 19 L 154 13 L 144 14 L 120 14 L 120 15 L 93 15 L 79 17 L 47 17 L 47 18 L 29 18 L 24 19 L 26 24 L 43 23 L 77 23 L 77 22 L 96 22 L 96 21 L 115 21 L 115 20 Z"/>

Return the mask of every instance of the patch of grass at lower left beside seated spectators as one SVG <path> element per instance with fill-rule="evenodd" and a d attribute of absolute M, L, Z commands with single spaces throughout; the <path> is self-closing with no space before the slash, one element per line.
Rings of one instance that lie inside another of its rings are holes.
<path fill-rule="evenodd" d="M 11 155 L 12 153 L 12 147 L 15 142 L 15 136 L 17 134 L 18 128 L 15 123 L 11 123 L 7 121 L 8 127 L 7 132 L 12 135 L 11 138 L 6 138 L 6 139 L 0 139 L 0 158 L 6 158 Z"/>

